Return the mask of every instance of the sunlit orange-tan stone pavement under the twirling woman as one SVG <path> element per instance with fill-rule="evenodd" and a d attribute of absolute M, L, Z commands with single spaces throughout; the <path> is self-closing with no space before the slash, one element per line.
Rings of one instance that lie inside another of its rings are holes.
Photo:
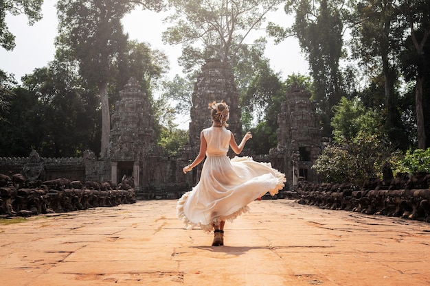
<path fill-rule="evenodd" d="M 212 247 L 175 204 L 0 224 L 1 285 L 430 285 L 427 223 L 262 200 Z"/>

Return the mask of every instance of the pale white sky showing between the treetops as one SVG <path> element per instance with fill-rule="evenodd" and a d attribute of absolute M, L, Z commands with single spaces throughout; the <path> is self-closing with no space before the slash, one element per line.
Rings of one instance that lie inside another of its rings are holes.
<path fill-rule="evenodd" d="M 34 25 L 27 25 L 25 15 L 6 16 L 6 23 L 10 32 L 14 34 L 16 47 L 13 51 L 5 51 L 0 47 L 0 69 L 6 73 L 13 73 L 15 79 L 21 82 L 21 77 L 32 73 L 34 69 L 46 67 L 47 63 L 54 60 L 54 38 L 57 34 L 55 0 L 45 0 L 43 3 L 43 19 Z M 164 51 L 170 60 L 169 78 L 181 74 L 181 67 L 177 64 L 177 58 L 181 55 L 180 46 L 164 45 L 161 41 L 161 33 L 165 29 L 162 19 L 168 12 L 155 13 L 137 8 L 123 19 L 124 31 L 131 40 L 150 43 L 152 49 Z M 278 23 L 284 27 L 291 25 L 292 17 L 284 13 L 283 5 L 278 12 L 270 14 L 269 21 Z M 269 58 L 271 68 L 275 72 L 281 72 L 282 78 L 288 75 L 308 74 L 308 63 L 300 53 L 299 44 L 295 38 L 287 38 L 279 45 L 274 45 L 273 39 L 268 38 L 268 45 L 264 56 Z"/>

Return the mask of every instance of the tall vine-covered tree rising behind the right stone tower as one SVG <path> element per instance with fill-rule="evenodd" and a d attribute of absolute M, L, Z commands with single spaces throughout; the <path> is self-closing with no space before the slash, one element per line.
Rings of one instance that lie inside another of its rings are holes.
<path fill-rule="evenodd" d="M 270 23 L 269 35 L 278 43 L 287 36 L 299 40 L 310 65 L 313 100 L 323 121 L 323 132 L 329 136 L 331 108 L 343 95 L 339 60 L 343 53 L 343 20 L 348 11 L 343 1 L 336 0 L 289 0 L 284 9 L 286 14 L 295 12 L 295 23 L 287 28 Z"/>

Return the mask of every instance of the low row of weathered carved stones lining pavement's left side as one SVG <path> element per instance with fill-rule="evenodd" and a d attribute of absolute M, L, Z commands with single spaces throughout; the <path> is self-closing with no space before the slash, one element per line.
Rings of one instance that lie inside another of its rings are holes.
<path fill-rule="evenodd" d="M 22 174 L 0 174 L 0 216 L 29 217 L 40 213 L 64 213 L 94 207 L 136 202 L 133 178 L 111 182 L 28 180 Z"/>

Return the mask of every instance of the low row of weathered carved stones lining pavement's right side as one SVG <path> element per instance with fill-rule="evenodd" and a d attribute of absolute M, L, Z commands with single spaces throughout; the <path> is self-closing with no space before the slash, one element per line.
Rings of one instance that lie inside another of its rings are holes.
<path fill-rule="evenodd" d="M 392 176 L 391 176 L 392 177 Z M 367 215 L 386 215 L 430 222 L 430 174 L 397 174 L 395 178 L 370 178 L 362 187 L 348 182 L 297 184 L 300 204 L 320 208 L 354 211 Z"/>

